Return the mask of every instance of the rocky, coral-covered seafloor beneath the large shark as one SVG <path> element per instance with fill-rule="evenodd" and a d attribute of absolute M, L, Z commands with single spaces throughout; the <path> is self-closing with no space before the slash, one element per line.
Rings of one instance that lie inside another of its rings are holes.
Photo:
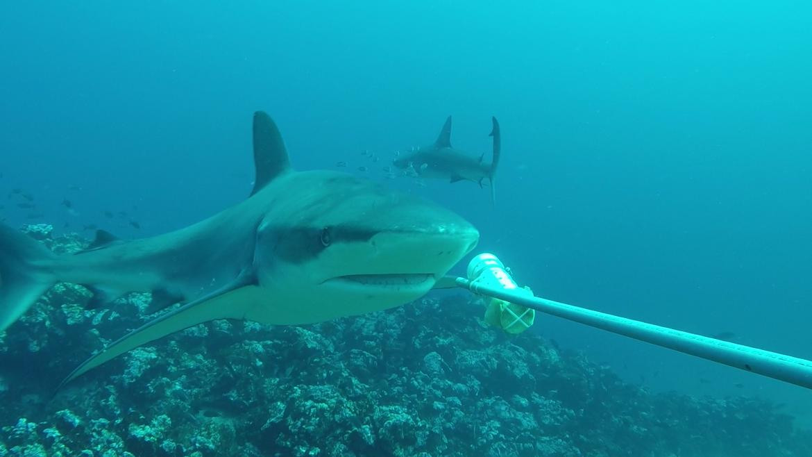
<path fill-rule="evenodd" d="M 25 230 L 60 253 L 87 243 Z M 0 334 L 0 455 L 812 455 L 771 403 L 650 393 L 486 327 L 464 295 L 308 326 L 218 320 L 54 394 L 148 319 L 148 294 L 89 298 L 58 284 Z"/>

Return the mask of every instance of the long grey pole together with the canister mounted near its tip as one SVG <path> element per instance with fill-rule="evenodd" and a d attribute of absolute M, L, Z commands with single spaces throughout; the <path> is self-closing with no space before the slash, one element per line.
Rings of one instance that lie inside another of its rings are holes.
<path fill-rule="evenodd" d="M 536 297 L 530 289 L 519 287 L 508 268 L 492 254 L 474 257 L 468 278 L 446 276 L 438 281 L 438 288 L 454 286 L 489 298 L 486 321 L 508 333 L 528 329 L 535 317 L 533 311 L 540 311 L 812 389 L 809 360 Z"/>

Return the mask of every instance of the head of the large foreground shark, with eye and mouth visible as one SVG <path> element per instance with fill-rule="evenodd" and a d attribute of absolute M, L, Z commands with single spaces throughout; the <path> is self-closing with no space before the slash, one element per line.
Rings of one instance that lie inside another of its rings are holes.
<path fill-rule="evenodd" d="M 273 291 L 274 323 L 317 322 L 420 298 L 479 238 L 459 215 L 356 176 L 296 172 L 279 176 L 268 192 L 278 194 L 276 186 L 297 197 L 271 204 L 257 229 L 257 280 Z"/>

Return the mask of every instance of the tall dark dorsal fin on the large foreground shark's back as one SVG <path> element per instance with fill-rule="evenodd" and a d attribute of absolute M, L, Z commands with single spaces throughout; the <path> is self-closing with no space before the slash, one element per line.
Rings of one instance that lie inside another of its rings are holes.
<path fill-rule="evenodd" d="M 276 176 L 286 172 L 291 167 L 287 158 L 285 142 L 279 128 L 264 111 L 254 113 L 253 122 L 254 167 L 257 177 L 251 194 L 257 194 Z"/>

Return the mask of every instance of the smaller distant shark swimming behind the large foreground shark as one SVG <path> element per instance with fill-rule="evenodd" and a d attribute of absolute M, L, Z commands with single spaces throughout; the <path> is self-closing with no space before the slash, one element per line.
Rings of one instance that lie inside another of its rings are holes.
<path fill-rule="evenodd" d="M 502 135 L 499 131 L 499 122 L 491 118 L 493 128 L 490 137 L 493 137 L 493 158 L 485 163 L 485 155 L 479 158 L 464 150 L 451 146 L 451 116 L 440 130 L 434 144 L 421 146 L 401 155 L 393 161 L 397 168 L 413 172 L 417 176 L 448 180 L 451 183 L 458 181 L 473 181 L 482 187 L 482 181 L 488 180 L 490 184 L 490 199 L 495 202 L 496 193 L 494 177 L 496 167 L 499 165 L 499 154 L 502 147 Z"/>

